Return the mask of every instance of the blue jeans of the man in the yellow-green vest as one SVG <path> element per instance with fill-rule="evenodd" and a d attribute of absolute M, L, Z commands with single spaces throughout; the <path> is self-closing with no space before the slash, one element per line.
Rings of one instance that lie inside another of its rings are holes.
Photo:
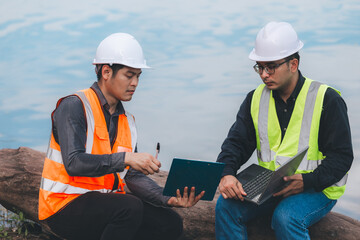
<path fill-rule="evenodd" d="M 307 228 L 330 212 L 335 204 L 336 200 L 313 190 L 283 199 L 270 198 L 260 206 L 220 195 L 215 209 L 216 239 L 247 239 L 247 222 L 271 213 L 276 239 L 310 239 Z"/>

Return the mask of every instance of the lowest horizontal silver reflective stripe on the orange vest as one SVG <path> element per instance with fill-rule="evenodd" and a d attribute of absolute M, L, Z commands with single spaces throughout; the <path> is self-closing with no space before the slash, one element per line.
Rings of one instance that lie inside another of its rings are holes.
<path fill-rule="evenodd" d="M 84 194 L 90 191 L 96 191 L 101 193 L 111 192 L 111 190 L 108 189 L 90 190 L 85 188 L 74 187 L 69 184 L 55 182 L 47 178 L 41 178 L 40 188 L 49 192 L 66 193 L 66 194 Z"/>

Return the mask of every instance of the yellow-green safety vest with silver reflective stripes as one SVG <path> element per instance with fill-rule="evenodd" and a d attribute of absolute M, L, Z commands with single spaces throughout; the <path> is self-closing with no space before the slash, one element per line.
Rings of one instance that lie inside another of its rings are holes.
<path fill-rule="evenodd" d="M 319 151 L 318 134 L 325 92 L 329 86 L 306 78 L 295 101 L 285 136 L 281 129 L 272 91 L 261 84 L 251 101 L 251 117 L 256 131 L 256 150 L 259 165 L 274 171 L 297 152 L 309 146 L 297 173 L 314 171 L 325 156 Z M 339 94 L 340 92 L 337 91 Z M 326 161 L 326 159 L 324 160 Z M 348 174 L 339 182 L 323 190 L 329 199 L 344 194 Z"/>

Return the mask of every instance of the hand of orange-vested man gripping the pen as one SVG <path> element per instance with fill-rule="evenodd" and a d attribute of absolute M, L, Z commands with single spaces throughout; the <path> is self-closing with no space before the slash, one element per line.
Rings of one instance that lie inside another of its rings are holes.
<path fill-rule="evenodd" d="M 125 166 L 142 172 L 145 175 L 159 172 L 161 163 L 149 153 L 125 153 Z"/>

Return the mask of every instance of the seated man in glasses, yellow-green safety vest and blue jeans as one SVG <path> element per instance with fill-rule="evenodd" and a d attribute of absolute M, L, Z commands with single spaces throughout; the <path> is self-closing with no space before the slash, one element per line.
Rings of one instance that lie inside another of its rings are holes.
<path fill-rule="evenodd" d="M 247 239 L 247 222 L 265 214 L 272 214 L 277 239 L 310 239 L 308 227 L 345 191 L 353 161 L 347 107 L 340 92 L 301 74 L 302 47 L 286 22 L 270 22 L 257 34 L 249 58 L 264 84 L 246 96 L 217 159 L 226 164 L 216 205 L 219 240 Z M 275 170 L 307 146 L 285 188 L 261 205 L 244 201 L 235 176 L 254 150 L 261 166 Z"/>

